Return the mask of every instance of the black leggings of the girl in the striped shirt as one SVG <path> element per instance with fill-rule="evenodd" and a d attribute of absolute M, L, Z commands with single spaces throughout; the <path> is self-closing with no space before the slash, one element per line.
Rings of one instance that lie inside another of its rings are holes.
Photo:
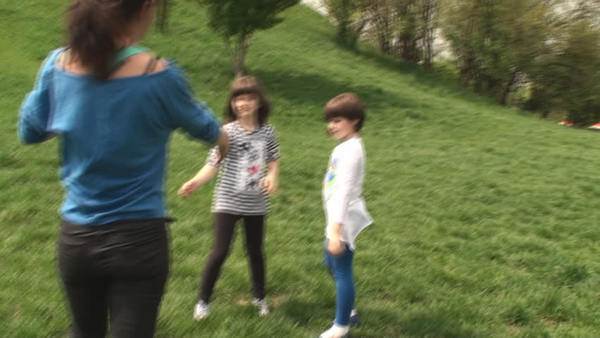
<path fill-rule="evenodd" d="M 265 233 L 265 216 L 242 216 L 229 213 L 214 213 L 215 242 L 211 256 L 208 257 L 202 274 L 199 298 L 208 303 L 211 301 L 215 283 L 219 277 L 221 266 L 229 253 L 234 236 L 235 223 L 244 218 L 246 233 L 246 251 L 250 261 L 252 275 L 252 293 L 258 299 L 265 298 L 265 259 L 263 257 L 263 238 Z"/>

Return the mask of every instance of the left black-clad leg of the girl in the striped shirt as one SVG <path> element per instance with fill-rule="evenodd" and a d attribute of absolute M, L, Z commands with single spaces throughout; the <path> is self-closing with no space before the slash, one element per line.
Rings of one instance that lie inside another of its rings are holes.
<path fill-rule="evenodd" d="M 215 241 L 211 256 L 208 257 L 202 274 L 200 287 L 200 300 L 208 303 L 211 301 L 215 283 L 219 277 L 221 266 L 225 263 L 225 258 L 229 253 L 229 248 L 233 238 L 235 223 L 241 216 L 231 215 L 229 213 L 214 213 L 215 218 Z"/>

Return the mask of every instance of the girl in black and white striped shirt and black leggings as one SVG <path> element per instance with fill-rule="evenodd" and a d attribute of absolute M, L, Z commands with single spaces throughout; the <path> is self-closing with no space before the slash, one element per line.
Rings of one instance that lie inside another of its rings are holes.
<path fill-rule="evenodd" d="M 279 142 L 275 129 L 267 123 L 269 113 L 270 104 L 258 80 L 249 76 L 237 78 L 225 109 L 227 124 L 223 126 L 230 139 L 229 153 L 223 161 L 218 161 L 218 147 L 211 149 L 206 165 L 180 188 L 181 196 L 191 196 L 219 174 L 211 208 L 215 240 L 202 275 L 199 300 L 194 306 L 196 320 L 210 313 L 213 289 L 229 253 L 235 223 L 240 219 L 244 220 L 250 258 L 253 303 L 261 316 L 269 312 L 265 301 L 263 239 L 268 195 L 277 190 L 279 175 Z"/>

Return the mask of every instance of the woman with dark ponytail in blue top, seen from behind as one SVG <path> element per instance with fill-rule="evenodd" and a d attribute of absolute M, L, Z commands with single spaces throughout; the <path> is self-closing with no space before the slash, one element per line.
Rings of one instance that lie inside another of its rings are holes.
<path fill-rule="evenodd" d="M 169 270 L 164 208 L 173 130 L 219 146 L 227 135 L 182 70 L 137 43 L 154 0 L 72 0 L 68 46 L 52 51 L 20 108 L 25 144 L 61 139 L 65 198 L 58 267 L 71 337 L 154 336 Z"/>

